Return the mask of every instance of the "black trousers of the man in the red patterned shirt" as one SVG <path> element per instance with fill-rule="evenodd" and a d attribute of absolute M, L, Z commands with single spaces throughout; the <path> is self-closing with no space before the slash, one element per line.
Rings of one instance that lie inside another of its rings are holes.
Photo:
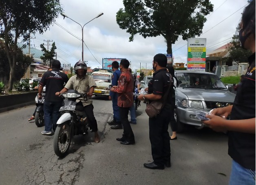
<path fill-rule="evenodd" d="M 119 107 L 119 113 L 120 113 L 121 124 L 123 125 L 123 128 L 124 128 L 124 134 L 122 138 L 127 140 L 128 142 L 133 142 L 135 140 L 134 134 L 128 120 L 129 107 L 127 108 Z"/>

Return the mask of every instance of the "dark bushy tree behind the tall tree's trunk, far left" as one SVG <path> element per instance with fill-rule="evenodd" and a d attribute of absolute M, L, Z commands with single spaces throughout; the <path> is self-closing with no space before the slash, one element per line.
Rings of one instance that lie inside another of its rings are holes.
<path fill-rule="evenodd" d="M 15 75 L 13 81 L 20 80 L 26 73 L 29 65 L 33 62 L 33 57 L 24 55 L 21 48 L 17 48 L 17 60 L 14 68 Z M 8 64 L 7 52 L 5 50 L 4 42 L 0 41 L 0 77 L 5 78 L 10 74 L 10 66 Z"/>

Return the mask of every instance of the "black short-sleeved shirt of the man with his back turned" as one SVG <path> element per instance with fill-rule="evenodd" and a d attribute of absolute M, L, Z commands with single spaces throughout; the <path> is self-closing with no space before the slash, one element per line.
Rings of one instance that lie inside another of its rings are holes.
<path fill-rule="evenodd" d="M 64 88 L 64 83 L 68 82 L 68 76 L 57 69 L 44 73 L 39 84 L 46 86 L 45 101 L 63 101 L 62 97 L 55 95 Z"/>

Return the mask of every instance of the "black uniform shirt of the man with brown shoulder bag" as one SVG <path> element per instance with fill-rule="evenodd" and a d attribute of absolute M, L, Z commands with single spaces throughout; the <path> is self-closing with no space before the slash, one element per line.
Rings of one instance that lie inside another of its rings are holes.
<path fill-rule="evenodd" d="M 163 95 L 168 90 L 170 85 L 171 74 L 167 72 L 166 69 L 159 69 L 158 71 L 153 73 L 153 78 L 148 82 L 148 94 L 153 93 L 154 95 Z M 172 104 L 172 94 L 170 93 L 172 88 L 168 93 L 165 104 L 163 108 L 171 108 Z M 151 101 L 149 101 L 151 102 Z"/>

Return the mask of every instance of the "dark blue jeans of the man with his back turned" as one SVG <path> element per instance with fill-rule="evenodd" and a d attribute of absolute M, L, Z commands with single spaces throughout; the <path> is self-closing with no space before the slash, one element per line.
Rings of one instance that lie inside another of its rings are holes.
<path fill-rule="evenodd" d="M 62 101 L 44 101 L 44 130 L 55 131 L 57 127 L 57 120 L 60 116 L 60 107 L 62 106 Z"/>

